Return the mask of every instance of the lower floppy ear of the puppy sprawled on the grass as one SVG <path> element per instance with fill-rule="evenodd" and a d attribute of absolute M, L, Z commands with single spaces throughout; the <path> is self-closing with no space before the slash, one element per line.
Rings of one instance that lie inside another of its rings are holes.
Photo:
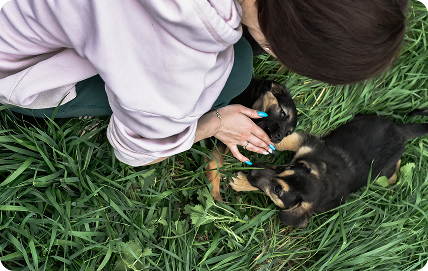
<path fill-rule="evenodd" d="M 287 210 L 279 212 L 279 219 L 285 225 L 304 228 L 312 216 L 312 203 L 301 202 Z"/>

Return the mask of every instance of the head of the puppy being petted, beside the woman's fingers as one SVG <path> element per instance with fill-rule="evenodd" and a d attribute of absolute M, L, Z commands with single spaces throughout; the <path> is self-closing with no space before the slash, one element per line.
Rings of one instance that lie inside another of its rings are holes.
<path fill-rule="evenodd" d="M 297 124 L 297 110 L 290 92 L 282 84 L 264 81 L 258 86 L 261 95 L 252 108 L 267 113 L 267 117 L 254 122 L 270 136 L 273 143 L 279 143 L 290 135 Z"/>

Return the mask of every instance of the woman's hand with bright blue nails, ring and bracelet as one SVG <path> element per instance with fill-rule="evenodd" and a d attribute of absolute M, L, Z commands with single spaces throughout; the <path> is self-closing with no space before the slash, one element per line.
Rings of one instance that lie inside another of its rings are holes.
<path fill-rule="evenodd" d="M 264 112 L 259 112 L 239 104 L 227 105 L 217 109 L 217 111 L 222 117 L 222 126 L 220 130 L 218 130 L 220 127 L 220 120 L 217 114 L 214 111 L 209 112 L 198 120 L 195 141 L 197 141 L 200 136 L 202 136 L 202 138 L 207 138 L 215 134 L 215 137 L 229 147 L 236 159 L 248 165 L 252 163 L 239 152 L 238 145 L 246 145 L 247 150 L 261 154 L 269 154 L 269 152 L 272 152 L 273 145 L 269 136 L 250 119 L 262 118 L 266 116 Z M 247 142 L 249 143 L 247 144 Z M 269 145 L 271 147 L 269 147 Z"/>

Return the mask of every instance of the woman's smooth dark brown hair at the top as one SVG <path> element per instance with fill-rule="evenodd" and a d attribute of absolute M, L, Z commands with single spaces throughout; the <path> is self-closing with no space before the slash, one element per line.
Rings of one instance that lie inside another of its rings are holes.
<path fill-rule="evenodd" d="M 408 0 L 257 0 L 270 49 L 287 68 L 332 84 L 379 74 L 396 58 Z"/>

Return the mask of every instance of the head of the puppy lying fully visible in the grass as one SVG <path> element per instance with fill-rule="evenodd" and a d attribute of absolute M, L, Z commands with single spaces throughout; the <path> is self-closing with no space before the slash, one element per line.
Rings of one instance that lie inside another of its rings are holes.
<path fill-rule="evenodd" d="M 306 227 L 315 204 L 322 195 L 326 165 L 323 162 L 297 159 L 294 165 L 272 168 L 257 164 L 248 174 L 251 185 L 262 190 L 282 210 L 280 220 L 292 227 Z"/>

